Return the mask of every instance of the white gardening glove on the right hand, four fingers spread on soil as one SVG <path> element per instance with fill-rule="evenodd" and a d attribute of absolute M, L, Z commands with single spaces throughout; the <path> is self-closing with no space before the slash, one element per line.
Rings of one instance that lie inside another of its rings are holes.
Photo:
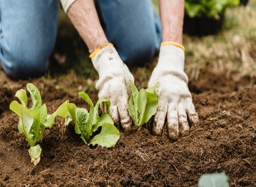
<path fill-rule="evenodd" d="M 161 44 L 157 66 L 152 72 L 149 87 L 157 87 L 158 109 L 155 113 L 153 133 L 161 135 L 167 121 L 170 139 L 189 133 L 189 123 L 198 123 L 198 114 L 187 87 L 188 78 L 184 72 L 184 47 L 174 42 Z"/>

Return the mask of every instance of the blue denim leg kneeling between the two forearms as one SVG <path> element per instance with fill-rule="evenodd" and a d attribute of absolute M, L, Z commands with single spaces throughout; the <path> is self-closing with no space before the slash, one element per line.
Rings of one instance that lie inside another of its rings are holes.
<path fill-rule="evenodd" d="M 151 0 L 98 0 L 107 39 L 129 65 L 151 60 L 162 40 L 162 26 Z"/>

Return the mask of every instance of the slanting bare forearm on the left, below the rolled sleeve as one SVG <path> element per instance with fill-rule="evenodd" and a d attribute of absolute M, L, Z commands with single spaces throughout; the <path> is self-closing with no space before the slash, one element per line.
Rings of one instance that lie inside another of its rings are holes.
<path fill-rule="evenodd" d="M 85 41 L 89 52 L 107 43 L 93 0 L 77 0 L 67 10 L 71 22 Z"/>

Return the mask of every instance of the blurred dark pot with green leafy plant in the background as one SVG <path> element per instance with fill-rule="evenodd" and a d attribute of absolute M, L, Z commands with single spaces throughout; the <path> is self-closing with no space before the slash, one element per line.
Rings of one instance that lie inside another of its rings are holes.
<path fill-rule="evenodd" d="M 183 32 L 189 35 L 213 35 L 222 29 L 225 10 L 240 0 L 185 0 Z"/>

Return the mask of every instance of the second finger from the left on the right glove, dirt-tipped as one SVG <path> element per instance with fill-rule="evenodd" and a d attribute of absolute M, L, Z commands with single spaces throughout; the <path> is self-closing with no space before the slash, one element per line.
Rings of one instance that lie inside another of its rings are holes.
<path fill-rule="evenodd" d="M 167 111 L 167 128 L 171 140 L 177 140 L 179 137 L 179 121 L 177 103 L 169 103 Z"/>

